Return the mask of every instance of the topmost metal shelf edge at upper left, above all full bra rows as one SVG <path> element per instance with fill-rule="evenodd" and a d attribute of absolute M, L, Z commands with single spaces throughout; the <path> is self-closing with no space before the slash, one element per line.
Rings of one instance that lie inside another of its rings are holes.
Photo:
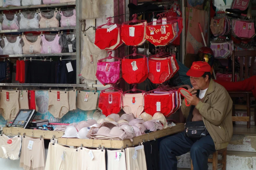
<path fill-rule="evenodd" d="M 59 7 L 59 6 L 68 6 L 68 5 L 76 5 L 76 2 L 67 2 L 67 3 L 59 3 L 59 4 L 28 5 L 28 6 L 19 6 L 19 7 L 14 7 L 14 6 L 0 7 L 0 10 L 40 8 L 40 7 Z"/>

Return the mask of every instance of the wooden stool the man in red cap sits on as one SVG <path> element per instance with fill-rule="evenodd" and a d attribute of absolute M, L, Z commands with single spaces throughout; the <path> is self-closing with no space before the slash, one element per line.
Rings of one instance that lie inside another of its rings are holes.
<path fill-rule="evenodd" d="M 222 160 L 218 160 L 218 154 L 222 154 Z M 216 150 L 213 152 L 213 159 L 208 158 L 208 163 L 213 163 L 213 170 L 222 168 L 226 170 L 227 165 L 227 148 Z M 218 165 L 220 163 L 220 165 Z M 194 170 L 192 160 L 191 160 L 191 170 Z"/>

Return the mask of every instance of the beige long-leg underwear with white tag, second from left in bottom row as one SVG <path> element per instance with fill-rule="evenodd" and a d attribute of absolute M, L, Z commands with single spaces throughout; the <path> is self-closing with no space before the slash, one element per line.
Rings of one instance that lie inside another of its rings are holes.
<path fill-rule="evenodd" d="M 29 150 L 28 143 L 33 141 L 32 150 Z M 25 136 L 22 138 L 22 147 L 20 155 L 20 167 L 25 170 L 43 170 L 45 167 L 45 153 L 44 153 L 44 142 L 43 138 L 31 138 Z"/>

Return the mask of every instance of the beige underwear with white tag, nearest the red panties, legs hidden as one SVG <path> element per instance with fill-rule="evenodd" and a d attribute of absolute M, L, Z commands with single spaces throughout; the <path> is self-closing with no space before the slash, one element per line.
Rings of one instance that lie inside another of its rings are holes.
<path fill-rule="evenodd" d="M 87 102 L 84 101 L 86 92 L 77 92 L 77 108 L 81 110 L 96 110 L 99 93 L 89 92 Z"/>

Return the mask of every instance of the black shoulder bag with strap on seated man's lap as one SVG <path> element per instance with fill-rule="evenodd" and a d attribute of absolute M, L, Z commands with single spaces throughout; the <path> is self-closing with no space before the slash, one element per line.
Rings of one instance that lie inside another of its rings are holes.
<path fill-rule="evenodd" d="M 196 96 L 199 95 L 199 90 L 196 93 Z M 189 111 L 188 119 L 185 123 L 185 137 L 204 137 L 208 135 L 208 131 L 204 125 L 203 121 L 191 121 L 193 116 L 193 110 L 195 106 L 191 106 Z"/>

